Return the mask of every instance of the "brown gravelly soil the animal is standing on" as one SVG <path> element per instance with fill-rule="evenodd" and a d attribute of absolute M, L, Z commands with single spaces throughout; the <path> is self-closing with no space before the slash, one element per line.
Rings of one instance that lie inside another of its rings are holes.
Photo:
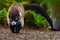
<path fill-rule="evenodd" d="M 19 33 L 11 33 L 8 26 L 0 25 L 0 40 L 60 40 L 59 31 L 46 31 L 45 27 L 39 29 L 26 25 Z"/>

